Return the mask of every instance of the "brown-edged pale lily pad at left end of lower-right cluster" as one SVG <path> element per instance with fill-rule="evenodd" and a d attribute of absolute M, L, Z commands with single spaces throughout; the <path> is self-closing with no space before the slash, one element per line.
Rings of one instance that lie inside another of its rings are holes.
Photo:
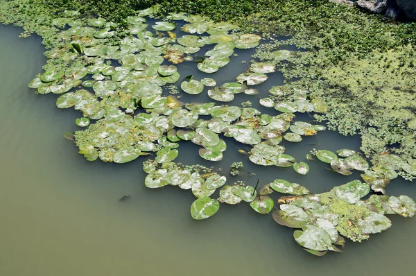
<path fill-rule="evenodd" d="M 301 207 L 283 204 L 279 208 L 280 210 L 273 212 L 273 218 L 280 225 L 302 228 L 310 221 L 308 214 Z"/>

